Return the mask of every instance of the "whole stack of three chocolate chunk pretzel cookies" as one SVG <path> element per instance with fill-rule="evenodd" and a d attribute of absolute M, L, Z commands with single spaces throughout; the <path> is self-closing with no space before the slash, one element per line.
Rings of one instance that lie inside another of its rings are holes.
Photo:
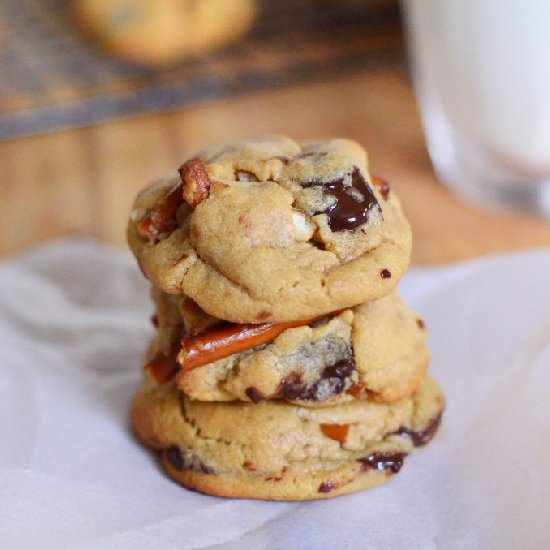
<path fill-rule="evenodd" d="M 137 197 L 156 337 L 132 421 L 175 480 L 305 500 L 377 485 L 444 406 L 396 286 L 411 232 L 347 140 L 213 147 Z"/>

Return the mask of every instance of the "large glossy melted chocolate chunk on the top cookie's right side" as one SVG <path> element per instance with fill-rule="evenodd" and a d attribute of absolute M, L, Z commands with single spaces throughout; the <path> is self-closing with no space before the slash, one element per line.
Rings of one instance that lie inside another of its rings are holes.
<path fill-rule="evenodd" d="M 342 177 L 329 182 L 305 182 L 303 187 L 323 188 L 323 192 L 336 198 L 336 202 L 324 212 L 328 216 L 331 231 L 351 231 L 368 222 L 371 210 L 382 212 L 372 189 L 359 168 L 351 173 L 351 185 L 344 185 Z"/>

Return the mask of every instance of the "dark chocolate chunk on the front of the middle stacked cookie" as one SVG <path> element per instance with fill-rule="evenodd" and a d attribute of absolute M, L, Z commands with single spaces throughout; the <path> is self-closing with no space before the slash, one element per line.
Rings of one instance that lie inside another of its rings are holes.
<path fill-rule="evenodd" d="M 303 382 L 302 373 L 293 373 L 283 381 L 278 394 L 291 401 L 319 401 L 320 397 L 327 393 L 328 387 L 328 393 L 338 395 L 344 391 L 346 378 L 354 369 L 355 360 L 350 355 L 334 365 L 325 367 L 319 380 L 309 386 Z"/>

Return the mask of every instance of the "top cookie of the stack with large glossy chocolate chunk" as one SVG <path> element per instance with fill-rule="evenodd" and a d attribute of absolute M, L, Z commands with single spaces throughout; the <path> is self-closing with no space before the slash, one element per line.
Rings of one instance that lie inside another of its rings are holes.
<path fill-rule="evenodd" d="M 142 191 L 128 241 L 154 285 L 236 323 L 307 319 L 390 293 L 411 231 L 365 151 L 285 137 L 212 147 Z"/>

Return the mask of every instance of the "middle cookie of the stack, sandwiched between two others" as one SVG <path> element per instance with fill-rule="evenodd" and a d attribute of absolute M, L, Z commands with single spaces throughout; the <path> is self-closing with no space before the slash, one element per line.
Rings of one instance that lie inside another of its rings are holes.
<path fill-rule="evenodd" d="M 425 379 L 429 354 L 424 323 L 396 292 L 288 328 L 271 341 L 200 368 L 187 363 L 192 342 L 211 347 L 215 338 L 209 335 L 227 334 L 227 325 L 219 329 L 212 317 L 201 315 L 186 298 L 157 290 L 154 299 L 158 336 L 149 360 L 171 357 L 174 372 L 183 367 L 177 383 L 191 399 L 255 403 L 284 399 L 302 406 L 333 406 L 354 399 L 392 402 L 413 393 Z M 202 334 L 193 336 L 197 331 Z M 172 353 L 174 346 L 177 353 Z"/>

